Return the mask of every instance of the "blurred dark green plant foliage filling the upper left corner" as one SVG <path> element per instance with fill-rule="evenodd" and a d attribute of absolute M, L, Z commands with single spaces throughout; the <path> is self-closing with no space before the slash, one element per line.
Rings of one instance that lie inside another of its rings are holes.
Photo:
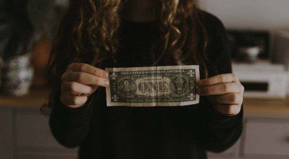
<path fill-rule="evenodd" d="M 0 1 L 0 57 L 30 52 L 44 33 L 52 40 L 64 12 L 55 0 Z"/>

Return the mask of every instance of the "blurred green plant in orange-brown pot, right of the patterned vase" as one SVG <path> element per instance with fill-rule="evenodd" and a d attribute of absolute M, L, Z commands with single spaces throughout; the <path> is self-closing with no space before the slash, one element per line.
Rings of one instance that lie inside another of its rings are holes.
<path fill-rule="evenodd" d="M 53 40 L 58 32 L 67 0 L 28 0 L 27 11 L 36 32 L 42 34 L 31 51 L 31 63 L 34 67 L 33 86 L 46 86 L 45 71 L 48 64 Z"/>

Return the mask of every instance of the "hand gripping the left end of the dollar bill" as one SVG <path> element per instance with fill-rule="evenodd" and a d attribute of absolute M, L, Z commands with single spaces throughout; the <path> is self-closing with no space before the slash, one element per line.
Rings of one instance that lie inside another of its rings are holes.
<path fill-rule="evenodd" d="M 84 106 L 99 86 L 109 85 L 108 73 L 85 63 L 72 63 L 61 76 L 60 101 L 70 108 Z"/>

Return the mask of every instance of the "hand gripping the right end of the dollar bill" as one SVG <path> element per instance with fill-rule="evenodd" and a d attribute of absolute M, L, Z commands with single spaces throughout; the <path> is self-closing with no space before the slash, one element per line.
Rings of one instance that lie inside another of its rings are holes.
<path fill-rule="evenodd" d="M 234 116 L 241 110 L 244 86 L 232 73 L 215 75 L 197 83 L 199 95 L 205 95 L 221 115 Z"/>

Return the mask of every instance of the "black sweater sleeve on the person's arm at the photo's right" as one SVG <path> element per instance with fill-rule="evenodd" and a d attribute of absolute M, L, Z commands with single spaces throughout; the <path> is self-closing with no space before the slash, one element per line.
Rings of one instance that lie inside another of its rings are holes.
<path fill-rule="evenodd" d="M 217 74 L 231 73 L 229 43 L 225 28 L 220 20 L 209 15 L 210 21 L 208 58 L 215 66 Z M 216 75 L 211 73 L 210 76 Z M 205 96 L 200 98 L 198 142 L 203 149 L 222 152 L 238 140 L 242 133 L 243 106 L 241 111 L 232 117 L 217 114 Z"/>

